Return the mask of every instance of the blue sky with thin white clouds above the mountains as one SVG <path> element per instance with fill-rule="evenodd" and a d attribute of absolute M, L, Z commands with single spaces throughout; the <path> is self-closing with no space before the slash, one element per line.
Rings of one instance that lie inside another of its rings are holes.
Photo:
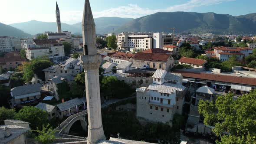
<path fill-rule="evenodd" d="M 82 21 L 84 0 L 57 0 L 62 23 Z M 157 12 L 186 11 L 239 16 L 256 13 L 256 0 L 90 0 L 94 18 L 139 18 Z M 56 0 L 0 0 L 0 23 L 55 22 Z"/>

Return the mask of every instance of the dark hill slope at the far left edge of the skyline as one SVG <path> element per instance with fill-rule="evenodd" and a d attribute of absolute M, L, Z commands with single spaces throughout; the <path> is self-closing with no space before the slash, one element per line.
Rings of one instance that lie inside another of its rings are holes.
<path fill-rule="evenodd" d="M 31 36 L 28 33 L 24 33 L 20 29 L 16 29 L 12 26 L 0 23 L 0 36 L 13 36 L 13 37 L 28 37 Z"/>

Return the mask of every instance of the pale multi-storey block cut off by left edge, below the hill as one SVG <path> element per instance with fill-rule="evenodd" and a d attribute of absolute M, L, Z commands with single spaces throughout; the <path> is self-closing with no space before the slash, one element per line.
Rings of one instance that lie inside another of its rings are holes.
<path fill-rule="evenodd" d="M 11 52 L 14 50 L 14 43 L 9 36 L 0 36 L 0 52 Z"/>

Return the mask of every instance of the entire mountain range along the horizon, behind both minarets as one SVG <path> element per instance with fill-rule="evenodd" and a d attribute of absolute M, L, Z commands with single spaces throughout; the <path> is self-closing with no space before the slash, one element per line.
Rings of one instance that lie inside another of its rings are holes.
<path fill-rule="evenodd" d="M 73 34 L 82 32 L 82 23 L 62 23 L 62 30 L 71 31 Z M 241 16 L 217 13 L 194 13 L 194 12 L 163 12 L 154 13 L 137 19 L 119 17 L 95 18 L 96 33 L 120 32 L 166 32 L 172 33 L 214 33 L 214 34 L 256 34 L 256 13 Z M 17 35 L 43 33 L 45 31 L 56 32 L 56 23 L 40 22 L 31 20 L 25 23 L 10 24 L 17 29 Z M 0 35 L 3 26 L 0 25 Z M 20 30 L 18 30 L 20 29 Z M 4 29 L 5 30 L 5 29 Z M 6 30 L 5 30 L 6 31 Z M 8 32 L 8 31 L 7 31 Z M 7 33 L 8 34 L 8 33 Z M 6 35 L 7 35 L 6 34 Z M 13 35 L 13 34 L 12 34 Z"/>

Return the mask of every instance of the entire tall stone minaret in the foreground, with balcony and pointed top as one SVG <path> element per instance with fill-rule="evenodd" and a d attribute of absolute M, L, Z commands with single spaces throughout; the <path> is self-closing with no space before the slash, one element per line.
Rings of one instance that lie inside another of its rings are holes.
<path fill-rule="evenodd" d="M 104 140 L 105 135 L 102 126 L 101 99 L 99 89 L 98 69 L 101 64 L 101 56 L 97 54 L 95 23 L 89 0 L 85 0 L 82 20 L 82 36 L 84 56 L 82 65 L 85 70 L 85 91 L 88 111 L 88 137 L 87 144 L 96 144 Z"/>

